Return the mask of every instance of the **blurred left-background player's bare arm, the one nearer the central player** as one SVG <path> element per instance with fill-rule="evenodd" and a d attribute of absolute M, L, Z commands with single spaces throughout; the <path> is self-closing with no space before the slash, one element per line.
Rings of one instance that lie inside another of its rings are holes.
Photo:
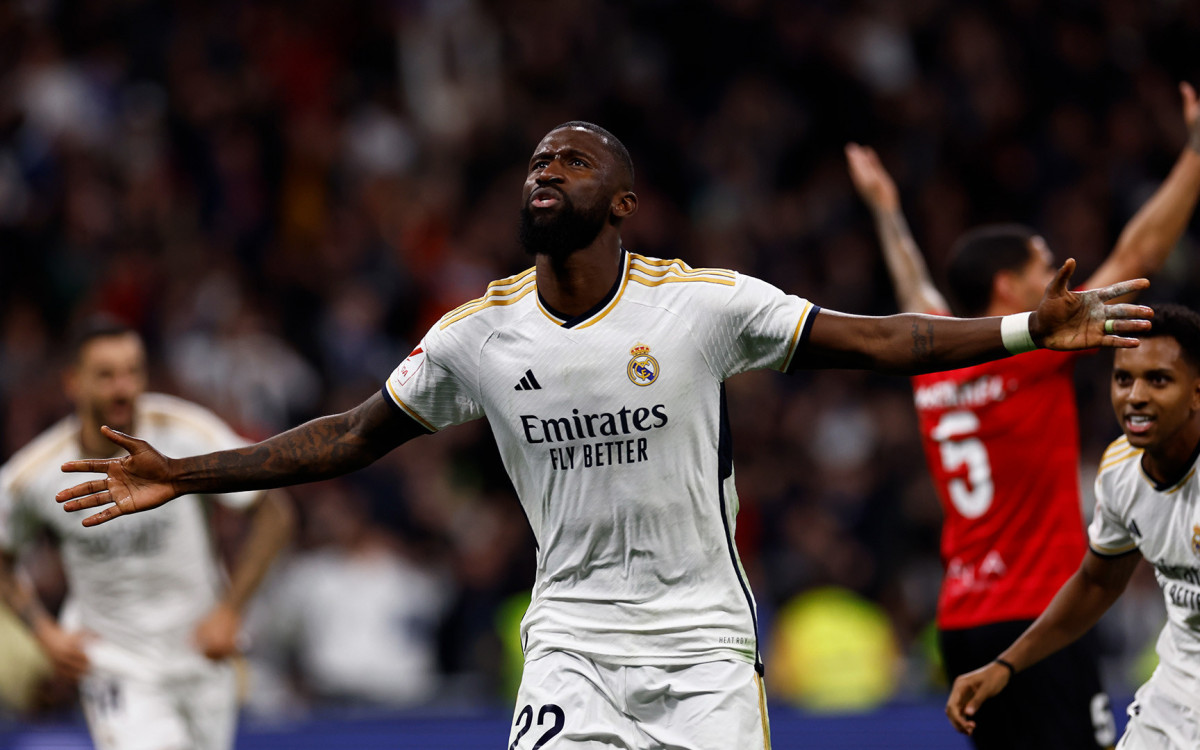
<path fill-rule="evenodd" d="M 250 530 L 229 575 L 229 590 L 196 628 L 196 641 L 209 659 L 238 650 L 238 634 L 246 604 L 295 529 L 290 498 L 282 490 L 266 492 L 251 511 Z"/>

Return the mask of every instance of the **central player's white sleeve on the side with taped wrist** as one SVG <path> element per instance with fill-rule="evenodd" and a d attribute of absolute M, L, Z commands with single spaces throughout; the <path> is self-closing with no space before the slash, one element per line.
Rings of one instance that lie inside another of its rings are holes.
<path fill-rule="evenodd" d="M 716 374 L 725 379 L 750 370 L 788 370 L 817 310 L 805 299 L 739 274 L 707 326 Z"/>

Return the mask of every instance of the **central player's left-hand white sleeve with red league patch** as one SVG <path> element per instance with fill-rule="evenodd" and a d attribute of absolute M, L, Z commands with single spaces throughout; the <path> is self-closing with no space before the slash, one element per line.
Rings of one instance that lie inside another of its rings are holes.
<path fill-rule="evenodd" d="M 430 432 L 480 419 L 473 361 L 461 337 L 434 325 L 388 377 L 384 396 Z"/>

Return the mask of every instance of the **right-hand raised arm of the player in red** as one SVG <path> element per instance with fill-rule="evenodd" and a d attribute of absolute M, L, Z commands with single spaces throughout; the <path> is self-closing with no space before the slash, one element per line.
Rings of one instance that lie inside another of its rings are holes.
<path fill-rule="evenodd" d="M 1188 142 L 1171 173 L 1129 220 L 1112 252 L 1085 282 L 1088 289 L 1158 271 L 1187 229 L 1200 200 L 1200 102 L 1187 83 L 1180 84 L 1180 92 Z"/>

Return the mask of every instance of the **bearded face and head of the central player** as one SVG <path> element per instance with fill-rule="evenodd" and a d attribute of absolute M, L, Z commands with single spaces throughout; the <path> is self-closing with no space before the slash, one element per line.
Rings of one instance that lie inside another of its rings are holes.
<path fill-rule="evenodd" d="M 551 131 L 529 160 L 521 203 L 521 244 L 529 254 L 564 257 L 587 247 L 612 216 L 614 164 L 600 136 Z"/>

